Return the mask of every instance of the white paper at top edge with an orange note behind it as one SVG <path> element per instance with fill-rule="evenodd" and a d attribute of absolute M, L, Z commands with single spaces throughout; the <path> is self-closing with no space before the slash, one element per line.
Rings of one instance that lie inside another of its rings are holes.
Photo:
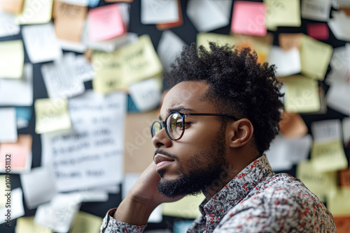
<path fill-rule="evenodd" d="M 141 0 L 141 23 L 158 24 L 179 20 L 177 1 Z"/>

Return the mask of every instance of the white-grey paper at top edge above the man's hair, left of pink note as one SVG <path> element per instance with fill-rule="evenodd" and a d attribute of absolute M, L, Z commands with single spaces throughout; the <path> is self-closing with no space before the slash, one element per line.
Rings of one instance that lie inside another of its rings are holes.
<path fill-rule="evenodd" d="M 213 31 L 230 23 L 232 1 L 188 1 L 187 15 L 197 31 Z"/>

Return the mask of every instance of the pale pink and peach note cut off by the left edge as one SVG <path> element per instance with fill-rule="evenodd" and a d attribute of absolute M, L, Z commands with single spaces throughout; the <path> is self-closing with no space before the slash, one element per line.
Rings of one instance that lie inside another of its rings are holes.
<path fill-rule="evenodd" d="M 6 172 L 10 165 L 11 173 L 25 173 L 31 169 L 31 135 L 18 135 L 18 141 L 0 143 L 0 172 Z M 10 163 L 6 161 L 10 160 Z"/>

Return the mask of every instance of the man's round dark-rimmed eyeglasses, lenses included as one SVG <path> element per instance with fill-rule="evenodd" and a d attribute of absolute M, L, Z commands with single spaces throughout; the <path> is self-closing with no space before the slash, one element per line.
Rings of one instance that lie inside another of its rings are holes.
<path fill-rule="evenodd" d="M 165 128 L 165 132 L 172 140 L 179 140 L 185 133 L 186 116 L 219 116 L 219 117 L 231 117 L 237 121 L 236 117 L 231 114 L 216 114 L 216 113 L 181 113 L 170 112 L 165 121 L 153 121 L 151 125 L 151 135 L 154 137 L 162 128 Z"/>

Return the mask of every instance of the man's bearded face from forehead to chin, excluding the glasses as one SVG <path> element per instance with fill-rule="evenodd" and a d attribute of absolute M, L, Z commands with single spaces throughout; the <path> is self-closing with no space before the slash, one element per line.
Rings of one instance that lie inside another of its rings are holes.
<path fill-rule="evenodd" d="M 162 121 L 169 112 L 218 113 L 202 96 L 209 87 L 205 82 L 181 82 L 165 96 L 160 110 Z M 171 140 L 163 128 L 153 145 L 160 174 L 158 190 L 168 197 L 200 193 L 225 179 L 225 128 L 214 116 L 186 116 L 185 133 Z"/>

